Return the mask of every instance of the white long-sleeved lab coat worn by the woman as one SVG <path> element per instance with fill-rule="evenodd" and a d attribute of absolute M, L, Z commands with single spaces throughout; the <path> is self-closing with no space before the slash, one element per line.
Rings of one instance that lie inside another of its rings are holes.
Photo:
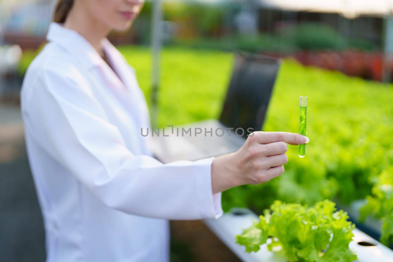
<path fill-rule="evenodd" d="M 47 38 L 21 90 L 47 262 L 168 261 L 167 219 L 222 214 L 213 158 L 154 159 L 146 101 L 118 50 L 103 40 L 121 81 L 77 32 L 52 23 Z"/>

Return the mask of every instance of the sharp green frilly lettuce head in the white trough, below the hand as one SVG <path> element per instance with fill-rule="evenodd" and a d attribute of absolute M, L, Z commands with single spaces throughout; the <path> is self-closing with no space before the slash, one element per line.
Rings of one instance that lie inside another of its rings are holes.
<path fill-rule="evenodd" d="M 313 207 L 275 201 L 260 216 L 259 222 L 236 236 L 236 242 L 256 252 L 262 244 L 268 250 L 281 247 L 289 261 L 349 262 L 356 255 L 349 249 L 355 225 L 348 222 L 347 213 L 336 211 L 335 203 L 325 200 Z M 273 248 L 274 247 L 274 248 Z"/>

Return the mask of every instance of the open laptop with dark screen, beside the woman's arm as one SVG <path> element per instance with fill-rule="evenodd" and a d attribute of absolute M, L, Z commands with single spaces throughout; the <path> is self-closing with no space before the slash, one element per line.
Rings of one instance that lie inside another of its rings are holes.
<path fill-rule="evenodd" d="M 235 53 L 219 120 L 168 126 L 149 134 L 155 157 L 162 163 L 195 161 L 239 150 L 249 133 L 262 129 L 280 65 L 281 59 L 274 57 Z"/>

